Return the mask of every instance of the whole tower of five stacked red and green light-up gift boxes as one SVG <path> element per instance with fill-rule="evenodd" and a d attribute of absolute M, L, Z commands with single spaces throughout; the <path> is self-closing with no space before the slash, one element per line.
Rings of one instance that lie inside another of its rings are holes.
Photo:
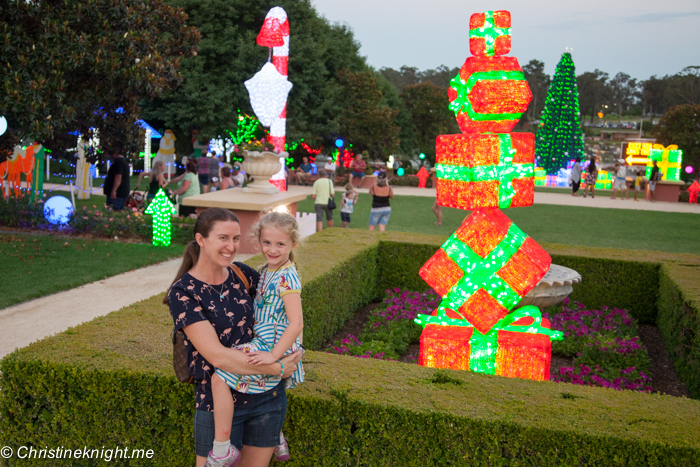
<path fill-rule="evenodd" d="M 534 306 L 513 310 L 551 258 L 501 209 L 530 206 L 535 136 L 511 133 L 532 99 L 510 52 L 510 13 L 475 13 L 469 57 L 450 83 L 462 134 L 437 138 L 437 200 L 472 213 L 420 270 L 441 297 L 424 326 L 419 363 L 549 379 L 551 341 L 562 338 Z"/>

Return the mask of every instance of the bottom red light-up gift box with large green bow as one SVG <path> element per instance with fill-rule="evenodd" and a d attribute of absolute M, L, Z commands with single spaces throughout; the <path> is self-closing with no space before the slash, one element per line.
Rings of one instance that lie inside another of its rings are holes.
<path fill-rule="evenodd" d="M 419 315 L 416 321 L 429 319 Z M 418 364 L 544 381 L 549 379 L 552 340 L 562 335 L 532 306 L 516 310 L 487 334 L 472 326 L 425 324 Z"/>

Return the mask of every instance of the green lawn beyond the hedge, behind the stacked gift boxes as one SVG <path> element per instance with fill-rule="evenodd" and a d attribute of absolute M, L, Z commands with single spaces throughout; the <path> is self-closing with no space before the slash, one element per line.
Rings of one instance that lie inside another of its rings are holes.
<path fill-rule="evenodd" d="M 338 204 L 339 200 L 338 193 Z M 397 196 L 391 202 L 388 230 L 449 236 L 468 212 L 443 208 L 443 224 L 436 226 L 431 210 L 433 201 L 434 198 L 428 197 Z M 361 194 L 350 227 L 367 228 L 370 207 L 371 197 Z M 313 212 L 313 201 L 300 202 L 298 210 Z M 504 212 L 524 232 L 541 242 L 672 253 L 700 252 L 700 216 L 697 214 L 545 204 Z M 340 226 L 338 210 L 334 211 L 334 220 L 335 225 Z"/>

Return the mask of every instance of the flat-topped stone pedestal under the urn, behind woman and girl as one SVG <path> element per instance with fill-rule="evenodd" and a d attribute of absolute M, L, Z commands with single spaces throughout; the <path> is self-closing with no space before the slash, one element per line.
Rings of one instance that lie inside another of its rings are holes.
<path fill-rule="evenodd" d="M 257 241 L 251 237 L 251 227 L 260 218 L 260 214 L 276 209 L 285 209 L 296 216 L 297 203 L 306 199 L 308 194 L 301 187 L 289 187 L 289 191 L 267 195 L 261 193 L 246 193 L 240 188 L 215 191 L 202 195 L 190 196 L 182 200 L 185 206 L 195 206 L 197 215 L 209 208 L 228 209 L 236 216 L 241 224 L 241 244 L 239 253 L 256 254 Z"/>

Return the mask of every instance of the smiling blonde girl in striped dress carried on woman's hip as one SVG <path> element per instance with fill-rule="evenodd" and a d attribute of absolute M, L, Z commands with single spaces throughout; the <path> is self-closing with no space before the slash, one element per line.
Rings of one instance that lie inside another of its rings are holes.
<path fill-rule="evenodd" d="M 301 347 L 304 328 L 301 280 L 294 265 L 299 226 L 292 215 L 271 212 L 264 215 L 252 231 L 260 242 L 267 264 L 262 268 L 255 297 L 255 337 L 249 344 L 235 348 L 248 354 L 247 362 L 250 365 L 281 363 L 284 355 Z M 294 387 L 303 381 L 304 370 L 299 362 L 296 372 L 285 383 L 287 387 Z M 229 467 L 235 465 L 240 456 L 230 443 L 234 399 L 229 387 L 246 393 L 251 385 L 262 387 L 265 384 L 265 379 L 259 376 L 236 375 L 216 369 L 216 375 L 212 377 L 214 449 L 205 467 Z M 289 447 L 281 432 L 279 436 L 280 444 L 274 454 L 275 459 L 281 462 L 289 459 Z"/>

